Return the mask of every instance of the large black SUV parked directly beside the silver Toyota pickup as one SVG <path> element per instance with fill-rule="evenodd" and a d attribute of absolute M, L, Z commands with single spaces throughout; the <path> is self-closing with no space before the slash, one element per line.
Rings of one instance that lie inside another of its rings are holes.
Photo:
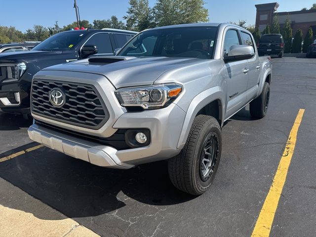
<path fill-rule="evenodd" d="M 31 51 L 0 54 L 0 109 L 5 113 L 30 112 L 33 76 L 41 69 L 92 54 L 114 55 L 137 32 L 115 29 L 75 30 L 49 37 Z"/>

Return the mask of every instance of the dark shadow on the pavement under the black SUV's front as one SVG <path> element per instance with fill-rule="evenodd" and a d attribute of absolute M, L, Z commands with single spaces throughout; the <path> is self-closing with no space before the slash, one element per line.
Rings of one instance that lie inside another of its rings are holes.
<path fill-rule="evenodd" d="M 29 127 L 33 118 L 24 119 L 22 115 L 6 114 L 0 111 L 0 130 L 19 130 L 21 127 Z"/>

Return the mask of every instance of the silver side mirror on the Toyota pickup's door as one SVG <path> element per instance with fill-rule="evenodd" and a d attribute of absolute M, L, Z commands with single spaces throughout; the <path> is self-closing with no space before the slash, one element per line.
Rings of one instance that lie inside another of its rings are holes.
<path fill-rule="evenodd" d="M 255 56 L 255 50 L 252 46 L 232 45 L 228 54 L 224 56 L 225 62 L 245 60 Z"/>

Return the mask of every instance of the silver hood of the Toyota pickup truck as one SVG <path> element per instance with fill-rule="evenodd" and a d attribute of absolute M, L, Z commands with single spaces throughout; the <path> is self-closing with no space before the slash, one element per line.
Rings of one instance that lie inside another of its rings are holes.
<path fill-rule="evenodd" d="M 101 58 L 101 57 L 100 57 Z M 166 71 L 186 67 L 205 59 L 177 57 L 105 57 L 122 59 L 114 63 L 92 63 L 88 59 L 56 65 L 44 70 L 74 71 L 100 74 L 107 77 L 116 87 L 153 84 Z"/>

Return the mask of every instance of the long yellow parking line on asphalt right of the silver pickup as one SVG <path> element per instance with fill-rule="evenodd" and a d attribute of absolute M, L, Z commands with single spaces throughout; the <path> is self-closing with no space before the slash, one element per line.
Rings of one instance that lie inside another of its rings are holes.
<path fill-rule="evenodd" d="M 273 179 L 273 183 L 270 187 L 266 200 L 262 206 L 251 237 L 269 237 L 270 235 L 271 226 L 276 214 L 277 204 L 282 193 L 287 171 L 294 153 L 297 131 L 301 124 L 304 112 L 304 109 L 300 109 L 297 114 L 290 135 L 288 136 L 283 155 L 277 167 L 276 175 Z"/>

